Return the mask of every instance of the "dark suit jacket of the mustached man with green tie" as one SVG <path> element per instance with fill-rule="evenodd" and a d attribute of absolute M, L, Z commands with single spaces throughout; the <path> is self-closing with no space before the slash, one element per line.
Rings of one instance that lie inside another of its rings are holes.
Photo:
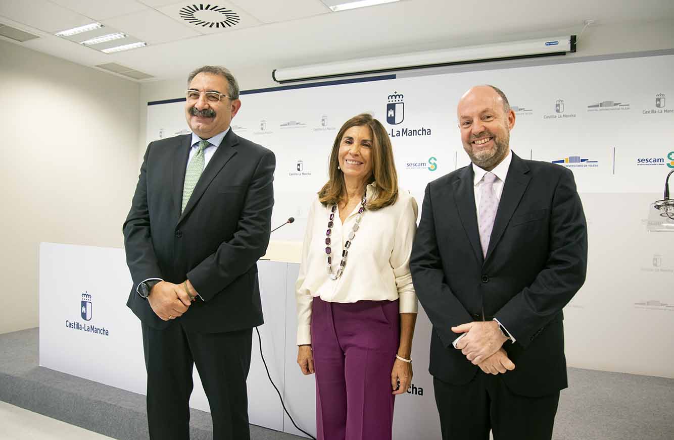
<path fill-rule="evenodd" d="M 228 332 L 263 323 L 257 259 L 269 243 L 276 157 L 230 129 L 181 215 L 191 135 L 148 145 L 131 211 L 124 223 L 133 287 L 127 305 L 153 328 L 160 320 L 136 288 L 148 278 L 189 279 L 197 299 L 177 318 L 200 332 Z"/>

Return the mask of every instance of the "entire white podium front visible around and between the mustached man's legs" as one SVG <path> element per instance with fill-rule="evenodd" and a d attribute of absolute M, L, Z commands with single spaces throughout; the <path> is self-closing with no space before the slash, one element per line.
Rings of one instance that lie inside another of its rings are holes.
<path fill-rule="evenodd" d="M 270 374 L 283 392 L 286 263 L 258 263 Z M 140 321 L 126 306 L 131 277 L 121 249 L 40 244 L 40 366 L 145 394 Z M 283 410 L 253 330 L 248 375 L 251 423 L 282 431 Z M 190 406 L 210 411 L 197 369 Z"/>

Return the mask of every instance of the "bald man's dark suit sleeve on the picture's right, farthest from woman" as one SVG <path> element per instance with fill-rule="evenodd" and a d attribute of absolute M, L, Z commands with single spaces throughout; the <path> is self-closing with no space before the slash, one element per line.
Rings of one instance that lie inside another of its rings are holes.
<path fill-rule="evenodd" d="M 553 194 L 545 268 L 496 314 L 526 348 L 585 282 L 587 225 L 574 175 L 563 170 Z"/>

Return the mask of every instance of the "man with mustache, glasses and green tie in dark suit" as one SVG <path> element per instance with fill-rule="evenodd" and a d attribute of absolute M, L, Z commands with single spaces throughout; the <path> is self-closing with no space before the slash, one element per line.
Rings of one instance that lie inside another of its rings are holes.
<path fill-rule="evenodd" d="M 142 322 L 150 439 L 189 439 L 192 369 L 215 440 L 249 439 L 246 377 L 252 328 L 263 323 L 256 262 L 269 242 L 276 159 L 230 122 L 239 85 L 223 67 L 188 78 L 192 133 L 148 145 L 124 223 Z"/>

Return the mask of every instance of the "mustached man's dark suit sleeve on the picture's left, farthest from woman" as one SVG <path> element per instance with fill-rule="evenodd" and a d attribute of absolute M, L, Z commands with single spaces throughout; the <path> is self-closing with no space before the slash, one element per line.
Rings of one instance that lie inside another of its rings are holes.
<path fill-rule="evenodd" d="M 148 145 L 148 149 L 145 151 L 143 165 L 140 167 L 140 176 L 138 176 L 138 184 L 131 201 L 131 209 L 122 227 L 127 265 L 131 272 L 134 288 L 137 288 L 146 279 L 163 278 L 152 246 L 150 211 L 148 210 L 147 170 L 151 148 L 152 143 Z"/>

